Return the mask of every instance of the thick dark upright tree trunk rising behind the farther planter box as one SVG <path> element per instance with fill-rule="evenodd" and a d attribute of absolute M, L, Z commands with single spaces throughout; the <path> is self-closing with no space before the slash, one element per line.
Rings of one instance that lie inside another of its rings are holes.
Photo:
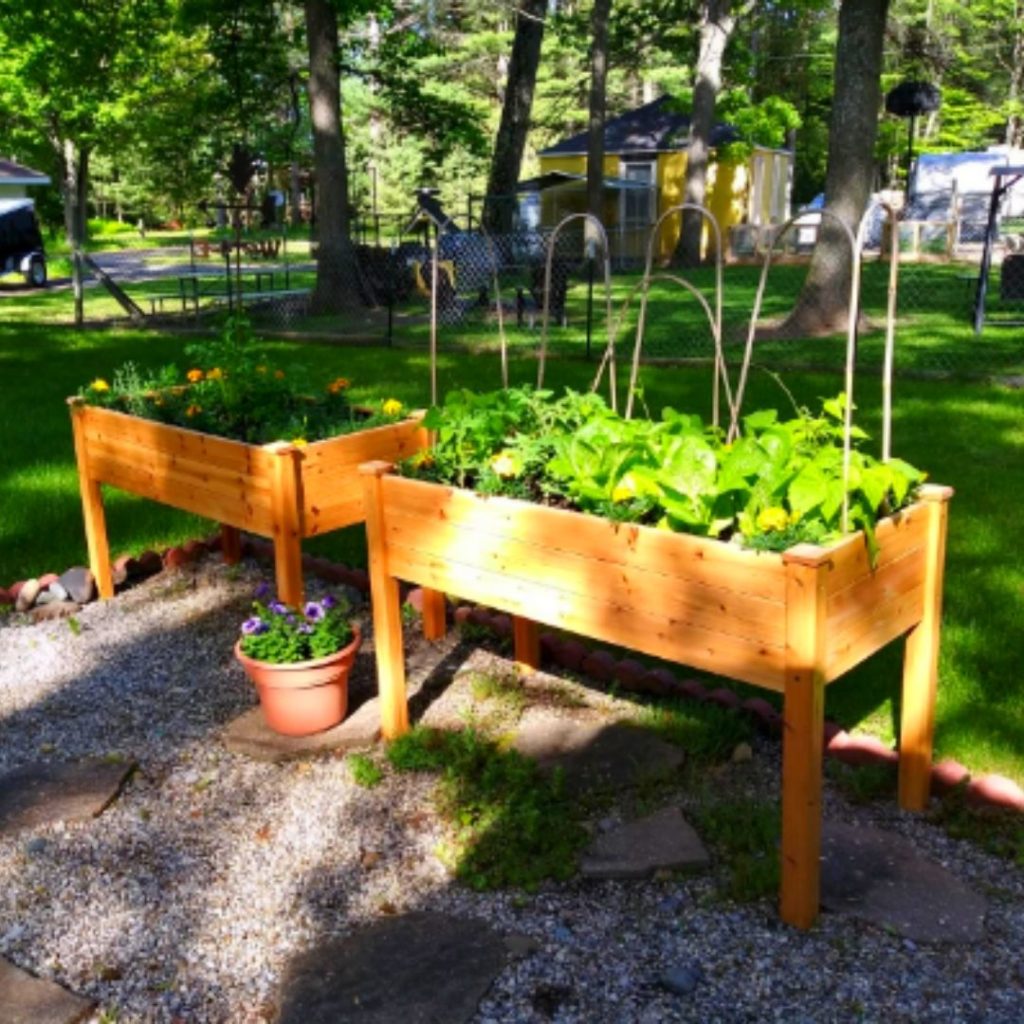
<path fill-rule="evenodd" d="M 305 12 L 318 240 L 312 306 L 317 312 L 332 312 L 357 301 L 338 81 L 338 18 L 331 0 L 305 0 Z"/>

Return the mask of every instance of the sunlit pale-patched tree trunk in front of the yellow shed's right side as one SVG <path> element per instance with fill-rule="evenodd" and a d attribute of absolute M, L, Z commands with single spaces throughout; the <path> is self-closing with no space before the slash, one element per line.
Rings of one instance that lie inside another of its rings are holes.
<path fill-rule="evenodd" d="M 683 201 L 697 206 L 705 205 L 708 191 L 711 133 L 715 127 L 715 103 L 722 87 L 722 59 L 735 26 L 736 17 L 730 0 L 709 0 L 700 5 L 700 49 L 693 83 L 690 144 L 683 189 Z M 683 266 L 699 264 L 702 232 L 703 217 L 695 210 L 686 210 L 678 250 Z"/>

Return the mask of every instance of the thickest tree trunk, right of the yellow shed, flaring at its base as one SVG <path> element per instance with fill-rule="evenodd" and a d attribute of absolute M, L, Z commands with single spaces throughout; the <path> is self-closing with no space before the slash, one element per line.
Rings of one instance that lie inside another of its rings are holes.
<path fill-rule="evenodd" d="M 889 0 L 843 0 L 828 127 L 825 205 L 854 233 L 874 179 L 874 139 L 882 99 L 882 48 Z M 845 331 L 850 311 L 853 253 L 846 232 L 823 216 L 797 304 L 777 336 Z"/>

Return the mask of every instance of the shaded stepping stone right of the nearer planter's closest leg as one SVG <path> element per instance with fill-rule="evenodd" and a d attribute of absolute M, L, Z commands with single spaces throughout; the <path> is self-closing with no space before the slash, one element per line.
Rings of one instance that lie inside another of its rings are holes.
<path fill-rule="evenodd" d="M 825 909 L 914 942 L 967 944 L 982 938 L 985 900 L 901 836 L 825 822 L 821 851 Z"/>

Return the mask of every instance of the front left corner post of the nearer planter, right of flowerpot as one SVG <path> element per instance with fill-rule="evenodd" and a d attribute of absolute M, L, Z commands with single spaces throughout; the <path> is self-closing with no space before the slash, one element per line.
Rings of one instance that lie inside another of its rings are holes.
<path fill-rule="evenodd" d="M 406 698 L 406 662 L 401 647 L 401 607 L 398 581 L 388 568 L 384 532 L 383 477 L 392 469 L 388 462 L 359 466 L 362 476 L 362 507 L 367 517 L 367 548 L 370 553 L 370 599 L 374 609 L 374 650 L 377 685 L 381 701 L 381 733 L 394 739 L 409 731 Z M 424 609 L 426 608 L 424 594 Z"/>

